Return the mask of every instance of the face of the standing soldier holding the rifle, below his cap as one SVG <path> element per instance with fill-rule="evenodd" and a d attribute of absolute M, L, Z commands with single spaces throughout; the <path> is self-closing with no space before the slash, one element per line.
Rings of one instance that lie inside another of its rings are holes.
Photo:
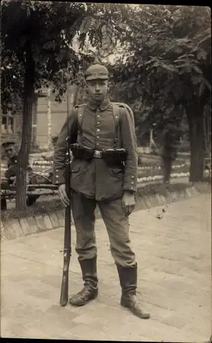
<path fill-rule="evenodd" d="M 87 92 L 96 102 L 102 102 L 108 93 L 108 80 L 87 81 Z"/>

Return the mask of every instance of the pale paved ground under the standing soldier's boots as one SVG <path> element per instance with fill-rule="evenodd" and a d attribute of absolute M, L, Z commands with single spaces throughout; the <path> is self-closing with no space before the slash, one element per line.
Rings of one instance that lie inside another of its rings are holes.
<path fill-rule="evenodd" d="M 63 228 L 1 244 L 1 337 L 207 342 L 211 336 L 211 195 L 130 216 L 139 265 L 141 320 L 119 305 L 117 270 L 97 220 L 99 296 L 60 307 Z M 73 228 L 69 293 L 82 285 Z"/>

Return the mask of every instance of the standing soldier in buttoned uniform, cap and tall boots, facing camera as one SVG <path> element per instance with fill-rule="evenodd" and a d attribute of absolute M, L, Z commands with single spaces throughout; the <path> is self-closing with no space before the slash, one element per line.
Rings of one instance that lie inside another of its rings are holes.
<path fill-rule="evenodd" d="M 115 115 L 107 97 L 108 69 L 93 64 L 86 70 L 88 103 L 75 106 L 62 127 L 54 153 L 54 183 L 67 206 L 64 185 L 66 139 L 73 152 L 71 204 L 76 230 L 76 252 L 82 270 L 83 289 L 71 298 L 75 306 L 97 297 L 97 247 L 95 207 L 98 205 L 110 240 L 121 285 L 121 305 L 135 316 L 150 318 L 137 300 L 137 261 L 129 238 L 128 217 L 137 191 L 137 139 L 134 123 L 124 106 Z M 116 120 L 119 117 L 119 122 Z"/>

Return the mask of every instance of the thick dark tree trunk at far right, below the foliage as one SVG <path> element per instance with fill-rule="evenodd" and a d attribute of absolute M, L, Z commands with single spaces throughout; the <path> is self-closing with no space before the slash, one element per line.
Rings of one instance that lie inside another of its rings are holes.
<path fill-rule="evenodd" d="M 190 182 L 200 182 L 204 178 L 203 113 L 198 111 L 198 115 L 196 115 L 196 110 L 191 115 L 187 115 L 191 145 Z"/>

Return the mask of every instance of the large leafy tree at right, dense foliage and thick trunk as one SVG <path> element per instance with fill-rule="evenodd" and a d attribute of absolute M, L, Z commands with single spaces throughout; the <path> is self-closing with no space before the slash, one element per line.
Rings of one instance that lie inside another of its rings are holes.
<path fill-rule="evenodd" d="M 137 107 L 141 134 L 155 122 L 161 129 L 179 126 L 186 112 L 192 182 L 203 178 L 204 107 L 211 96 L 210 14 L 203 6 L 139 5 L 128 21 L 133 32 L 126 37 L 129 56 L 113 68 L 122 95 Z"/>

